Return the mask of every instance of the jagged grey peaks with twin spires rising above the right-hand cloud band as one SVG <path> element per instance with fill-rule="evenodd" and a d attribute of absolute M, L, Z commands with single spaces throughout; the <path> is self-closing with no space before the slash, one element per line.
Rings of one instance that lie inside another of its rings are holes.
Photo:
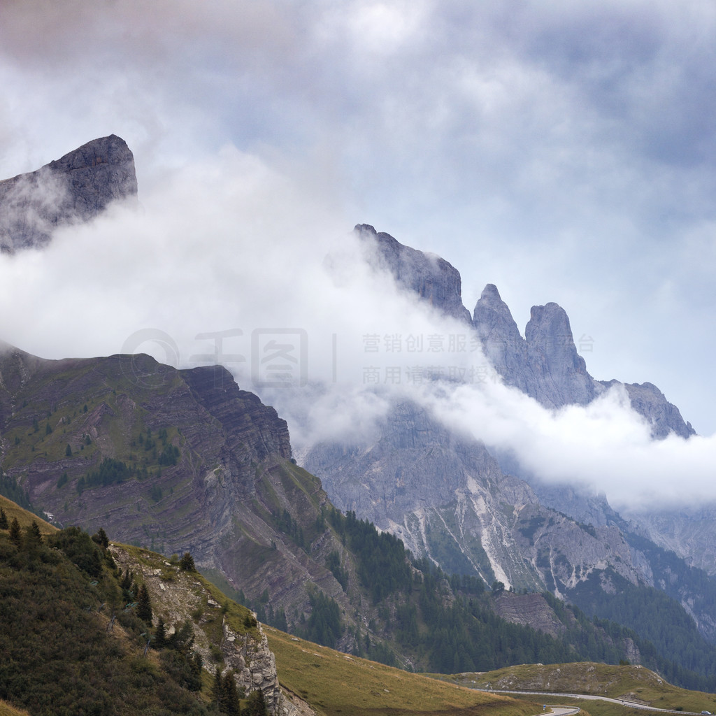
<path fill-rule="evenodd" d="M 577 352 L 569 317 L 558 304 L 532 306 L 525 337 L 494 284 L 485 286 L 473 316 L 463 306 L 460 272 L 447 261 L 404 246 L 369 224 L 354 231 L 364 242 L 371 266 L 390 274 L 398 286 L 427 301 L 446 316 L 465 321 L 475 330 L 485 357 L 506 384 L 546 407 L 586 405 L 611 382 L 595 380 Z M 612 381 L 613 382 L 613 381 Z M 632 407 L 651 422 L 654 437 L 674 432 L 694 435 L 677 407 L 650 383 L 627 385 Z"/>

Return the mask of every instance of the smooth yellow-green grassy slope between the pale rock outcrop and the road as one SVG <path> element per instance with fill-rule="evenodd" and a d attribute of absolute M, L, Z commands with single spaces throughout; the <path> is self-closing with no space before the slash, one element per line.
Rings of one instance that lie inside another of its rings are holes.
<path fill-rule="evenodd" d="M 536 702 L 475 692 L 420 674 L 350 657 L 266 627 L 281 686 L 324 716 L 530 716 Z"/>

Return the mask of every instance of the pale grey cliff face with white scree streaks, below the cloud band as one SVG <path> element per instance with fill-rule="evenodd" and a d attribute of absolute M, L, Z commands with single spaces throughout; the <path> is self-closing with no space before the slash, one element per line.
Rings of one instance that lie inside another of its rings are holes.
<path fill-rule="evenodd" d="M 375 440 L 316 445 L 305 460 L 334 503 L 390 531 L 448 572 L 566 594 L 600 564 L 636 584 L 648 575 L 613 525 L 585 529 L 541 505 L 478 440 L 397 405 Z"/>

